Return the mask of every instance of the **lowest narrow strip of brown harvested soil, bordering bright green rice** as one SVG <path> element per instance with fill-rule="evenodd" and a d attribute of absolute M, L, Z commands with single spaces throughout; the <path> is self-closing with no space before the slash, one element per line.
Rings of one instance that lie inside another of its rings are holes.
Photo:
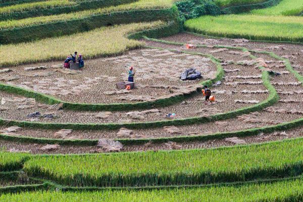
<path fill-rule="evenodd" d="M 296 128 L 282 132 L 274 132 L 269 134 L 260 133 L 256 136 L 231 138 L 231 139 L 214 139 L 208 141 L 194 142 L 167 142 L 167 143 L 146 143 L 142 145 L 125 145 L 121 151 L 146 151 L 146 150 L 171 150 L 171 149 L 193 149 L 193 148 L 214 148 L 221 146 L 233 146 L 237 144 L 254 144 L 268 141 L 283 140 L 287 138 L 296 138 L 303 136 L 303 128 Z M 89 153 L 104 153 L 102 148 L 97 146 L 64 146 L 60 145 L 56 149 L 43 150 L 45 144 L 32 144 L 0 140 L 0 146 L 4 149 L 26 151 L 31 154 L 89 154 Z"/>

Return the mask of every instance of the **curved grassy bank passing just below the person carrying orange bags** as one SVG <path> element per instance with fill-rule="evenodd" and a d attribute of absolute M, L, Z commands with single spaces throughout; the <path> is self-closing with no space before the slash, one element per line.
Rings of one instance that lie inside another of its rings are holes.
<path fill-rule="evenodd" d="M 154 40 L 157 40 L 157 39 L 154 39 Z M 174 42 L 169 42 L 169 43 L 172 44 Z M 230 47 L 230 46 L 226 46 L 226 47 L 235 48 L 235 47 Z M 236 48 L 236 49 L 241 49 L 244 52 L 247 51 L 246 48 Z M 188 52 L 184 52 L 184 53 L 188 53 Z M 195 53 L 195 54 L 204 55 L 204 54 L 198 54 L 198 53 Z M 221 67 L 221 69 L 222 69 L 221 71 L 223 71 L 222 67 Z M 217 74 L 217 76 L 218 75 L 220 75 L 220 74 Z M 231 112 L 216 114 L 216 115 L 209 116 L 209 117 L 191 117 L 191 118 L 168 120 L 168 121 L 124 123 L 124 124 L 117 124 L 117 123 L 107 123 L 107 124 L 40 123 L 40 122 L 11 121 L 11 120 L 4 120 L 4 119 L 1 120 L 0 119 L 0 125 L 17 125 L 19 127 L 43 128 L 43 129 L 116 130 L 116 129 L 120 129 L 121 127 L 126 127 L 129 129 L 159 128 L 159 127 L 163 127 L 163 126 L 189 125 L 189 124 L 196 124 L 196 123 L 207 123 L 207 122 L 211 122 L 211 121 L 225 120 L 225 119 L 235 118 L 242 114 L 261 111 L 269 106 L 272 106 L 274 103 L 278 102 L 279 95 L 276 92 L 273 85 L 270 83 L 269 77 L 270 76 L 269 76 L 268 72 L 264 71 L 262 73 L 263 85 L 269 90 L 269 96 L 266 100 L 264 100 L 263 102 L 261 102 L 259 104 L 254 105 L 254 106 L 244 107 L 244 108 L 237 109 L 237 110 L 234 110 Z"/>

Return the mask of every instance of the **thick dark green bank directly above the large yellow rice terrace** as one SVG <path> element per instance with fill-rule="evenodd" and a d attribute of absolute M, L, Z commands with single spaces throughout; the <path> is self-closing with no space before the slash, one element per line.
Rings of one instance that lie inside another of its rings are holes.
<path fill-rule="evenodd" d="M 3 29 L 0 30 L 0 44 L 28 42 L 47 37 L 70 35 L 114 24 L 129 24 L 157 20 L 165 22 L 172 20 L 177 21 L 178 15 L 179 13 L 176 6 L 173 6 L 169 9 L 120 11 L 91 15 L 74 20 Z"/>

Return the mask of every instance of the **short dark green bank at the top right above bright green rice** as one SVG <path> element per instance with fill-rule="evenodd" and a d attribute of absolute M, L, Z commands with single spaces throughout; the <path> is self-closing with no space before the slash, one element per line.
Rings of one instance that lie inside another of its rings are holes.
<path fill-rule="evenodd" d="M 232 6 L 227 8 L 222 8 L 222 14 L 238 14 L 248 12 L 254 9 L 264 9 L 272 6 L 276 6 L 282 0 L 269 0 L 266 2 L 262 2 L 259 4 L 248 4 L 248 5 L 241 5 L 241 6 Z"/>

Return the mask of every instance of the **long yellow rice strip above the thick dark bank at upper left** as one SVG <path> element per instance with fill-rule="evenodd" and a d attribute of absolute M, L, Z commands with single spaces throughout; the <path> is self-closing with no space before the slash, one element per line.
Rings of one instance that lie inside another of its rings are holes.
<path fill-rule="evenodd" d="M 40 25 L 45 23 L 55 23 L 60 21 L 70 21 L 76 19 L 83 19 L 89 16 L 109 14 L 112 12 L 121 12 L 129 10 L 148 10 L 148 9 L 163 9 L 171 8 L 174 0 L 139 0 L 131 4 L 124 4 L 119 6 L 112 6 L 107 8 L 92 9 L 68 14 L 41 16 L 34 18 L 26 18 L 21 20 L 7 20 L 0 21 L 0 29 L 13 29 L 20 27 L 27 27 L 31 25 Z"/>

